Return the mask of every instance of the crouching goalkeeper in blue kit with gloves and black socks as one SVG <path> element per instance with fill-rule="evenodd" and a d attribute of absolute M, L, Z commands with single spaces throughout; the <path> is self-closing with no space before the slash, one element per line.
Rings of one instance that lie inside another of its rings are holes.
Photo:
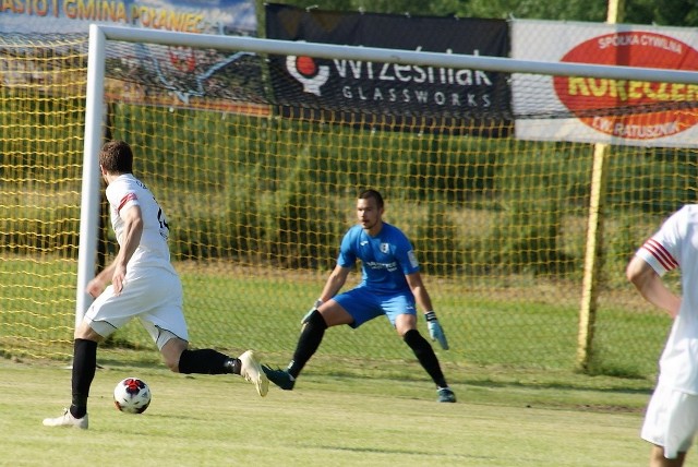
<path fill-rule="evenodd" d="M 341 240 L 337 265 L 330 273 L 320 299 L 303 316 L 302 331 L 293 358 L 286 370 L 262 366 L 269 381 L 290 391 L 296 379 L 315 354 L 327 327 L 348 324 L 352 328 L 385 315 L 436 384 L 437 400 L 455 403 L 431 344 L 417 330 L 417 303 L 432 340 L 448 349 L 444 331 L 433 311 L 422 283 L 419 263 L 407 236 L 383 220 L 383 197 L 375 190 L 363 191 L 357 201 L 359 224 Z M 362 282 L 339 294 L 357 260 L 361 260 Z"/>

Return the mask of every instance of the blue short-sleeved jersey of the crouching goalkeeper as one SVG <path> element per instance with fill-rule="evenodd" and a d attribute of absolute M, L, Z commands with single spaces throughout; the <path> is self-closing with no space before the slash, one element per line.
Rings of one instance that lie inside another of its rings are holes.
<path fill-rule="evenodd" d="M 357 260 L 361 260 L 362 282 L 359 287 L 377 292 L 410 290 L 405 276 L 419 271 L 407 236 L 387 223 L 383 223 L 383 228 L 375 237 L 366 234 L 360 225 L 345 234 L 337 264 L 352 267 Z"/>

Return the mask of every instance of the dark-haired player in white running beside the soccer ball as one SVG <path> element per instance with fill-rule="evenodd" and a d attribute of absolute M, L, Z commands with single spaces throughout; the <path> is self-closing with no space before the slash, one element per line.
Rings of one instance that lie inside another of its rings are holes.
<path fill-rule="evenodd" d="M 122 141 L 106 143 L 99 152 L 99 167 L 107 182 L 119 252 L 87 285 L 87 292 L 96 300 L 75 330 L 72 404 L 62 416 L 47 418 L 44 424 L 87 428 L 87 396 L 97 367 L 97 344 L 134 318 L 156 343 L 170 370 L 239 374 L 265 396 L 269 382 L 252 350 L 240 358 L 213 349 L 189 350 L 182 285 L 167 244 L 169 226 L 153 193 L 133 176 L 131 147 Z"/>

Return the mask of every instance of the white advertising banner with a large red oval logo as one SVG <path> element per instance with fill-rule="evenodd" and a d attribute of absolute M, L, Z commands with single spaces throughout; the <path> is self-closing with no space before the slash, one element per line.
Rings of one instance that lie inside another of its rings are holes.
<path fill-rule="evenodd" d="M 677 27 L 512 22 L 515 59 L 698 70 L 698 35 Z M 516 136 L 698 145 L 698 85 L 515 74 Z"/>

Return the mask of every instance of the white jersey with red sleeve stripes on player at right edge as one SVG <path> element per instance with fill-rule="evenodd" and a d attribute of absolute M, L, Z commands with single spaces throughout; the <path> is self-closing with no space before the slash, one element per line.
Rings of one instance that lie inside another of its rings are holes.
<path fill-rule="evenodd" d="M 682 302 L 660 358 L 659 384 L 698 394 L 698 204 L 674 213 L 636 254 L 660 276 L 681 268 Z"/>

